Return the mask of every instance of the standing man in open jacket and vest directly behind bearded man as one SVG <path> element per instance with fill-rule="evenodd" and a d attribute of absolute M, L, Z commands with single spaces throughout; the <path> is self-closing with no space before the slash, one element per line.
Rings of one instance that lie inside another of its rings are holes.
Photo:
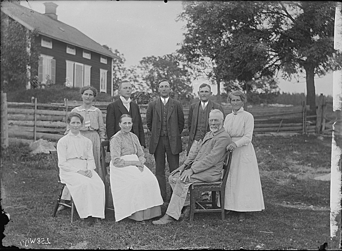
<path fill-rule="evenodd" d="M 190 134 L 186 156 L 191 155 L 201 146 L 204 136 L 210 131 L 208 119 L 211 110 L 219 109 L 225 118 L 222 106 L 210 100 L 212 95 L 210 85 L 201 84 L 197 94 L 200 101 L 190 105 L 189 109 L 188 129 Z M 211 192 L 202 192 L 202 201 L 209 202 L 210 195 Z"/>

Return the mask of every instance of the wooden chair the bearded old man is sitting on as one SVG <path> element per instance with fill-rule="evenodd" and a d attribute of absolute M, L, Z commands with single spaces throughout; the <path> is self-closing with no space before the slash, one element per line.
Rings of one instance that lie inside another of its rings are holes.
<path fill-rule="evenodd" d="M 232 162 L 232 153 L 228 152 L 225 162 L 223 164 L 223 178 L 219 181 L 212 183 L 209 182 L 196 182 L 192 184 L 189 188 L 190 190 L 190 222 L 194 220 L 194 213 L 206 213 L 206 212 L 221 212 L 222 220 L 224 220 L 224 195 L 226 189 L 226 182 L 229 174 L 229 169 Z M 212 209 L 205 209 L 202 205 L 208 204 L 206 201 L 196 201 L 197 191 L 211 191 L 211 206 Z M 221 208 L 216 206 L 216 191 L 220 193 Z M 198 209 L 195 209 L 195 204 L 197 204 Z"/>

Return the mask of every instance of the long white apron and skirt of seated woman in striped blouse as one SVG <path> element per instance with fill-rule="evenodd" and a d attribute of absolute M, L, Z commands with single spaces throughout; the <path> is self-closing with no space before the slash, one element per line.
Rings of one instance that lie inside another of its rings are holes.
<path fill-rule="evenodd" d="M 138 161 L 136 154 L 121 156 L 125 161 Z M 135 212 L 149 210 L 143 215 L 143 220 L 161 215 L 160 205 L 163 199 L 157 178 L 144 166 L 140 172 L 136 166 L 115 167 L 110 161 L 110 188 L 113 196 L 115 221 L 121 221 Z M 157 208 L 155 208 L 157 206 Z"/>

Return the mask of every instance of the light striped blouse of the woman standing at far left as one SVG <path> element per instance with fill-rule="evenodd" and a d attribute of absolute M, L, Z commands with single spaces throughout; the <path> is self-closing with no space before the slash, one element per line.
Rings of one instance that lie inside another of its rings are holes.
<path fill-rule="evenodd" d="M 83 123 L 81 125 L 80 132 L 82 131 L 94 131 L 96 130 L 100 139 L 106 139 L 106 127 L 103 123 L 102 112 L 95 106 L 91 106 L 88 111 L 84 109 L 82 106 L 75 107 L 71 112 L 76 112 L 81 114 L 84 118 Z M 66 132 L 64 135 L 69 133 L 70 126 L 67 125 Z"/>

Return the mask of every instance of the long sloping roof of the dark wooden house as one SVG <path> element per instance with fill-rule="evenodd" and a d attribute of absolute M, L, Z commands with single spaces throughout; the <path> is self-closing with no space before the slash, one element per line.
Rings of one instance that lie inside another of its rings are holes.
<path fill-rule="evenodd" d="M 36 29 L 41 35 L 121 60 L 78 29 L 47 15 L 8 1 L 1 1 L 1 11 L 27 29 Z"/>

